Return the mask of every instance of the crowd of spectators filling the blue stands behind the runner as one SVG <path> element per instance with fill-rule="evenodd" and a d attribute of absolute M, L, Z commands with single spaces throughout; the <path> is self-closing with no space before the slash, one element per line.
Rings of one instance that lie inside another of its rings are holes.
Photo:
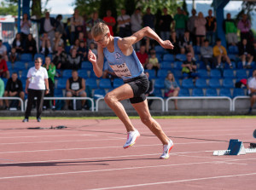
<path fill-rule="evenodd" d="M 54 91 L 56 69 L 79 70 L 81 63 L 87 60 L 89 49 L 97 55 L 97 44 L 91 37 L 90 30 L 92 26 L 101 21 L 108 25 L 111 35 L 119 37 L 131 36 L 132 33 L 145 26 L 149 26 L 154 30 L 158 25 L 160 37 L 163 40 L 170 40 L 175 47 L 174 49 L 169 49 L 168 53 L 174 56 L 186 55 L 186 60 L 182 64 L 183 78 L 198 78 L 196 72 L 198 58 L 195 56 L 194 47 L 200 49 L 199 58 L 206 65 L 207 71 L 212 68 L 223 68 L 226 63 L 230 68 L 233 67 L 225 47 L 236 46 L 239 49 L 238 56 L 244 68 L 252 68 L 252 63 L 256 60 L 256 42 L 253 41 L 251 22 L 248 20 L 247 14 L 242 15 L 237 25 L 230 14 L 226 15 L 223 22 L 223 30 L 227 44 L 222 44 L 217 36 L 217 20 L 212 15 L 212 9 L 208 10 L 208 15 L 203 15 L 201 12 L 197 14 L 196 10 L 192 9 L 191 16 L 189 16 L 183 9 L 177 8 L 177 14 L 172 17 L 168 13 L 168 9 L 164 8 L 159 22 L 156 22 L 156 17 L 151 13 L 150 8 L 146 9 L 144 14 L 138 8 L 131 16 L 125 13 L 125 9 L 121 9 L 117 20 L 112 16 L 111 10 L 107 10 L 106 16 L 103 18 L 99 18 L 98 13 L 94 12 L 88 20 L 87 16 L 79 14 L 79 9 L 75 9 L 73 16 L 67 19 L 67 23 L 63 23 L 61 14 L 53 18 L 50 17 L 49 12 L 46 12 L 44 17 L 39 20 L 30 20 L 27 14 L 23 14 L 20 21 L 20 33 L 16 34 L 9 52 L 7 52 L 2 40 L 0 40 L 0 76 L 1 78 L 12 80 L 12 82 L 8 82 L 4 95 L 14 96 L 9 90 L 10 83 L 19 83 L 19 85 L 17 84 L 19 86 L 17 88 L 18 92 L 15 95 L 19 95 L 24 99 L 24 94 L 21 93 L 22 85 L 20 87 L 19 78 L 16 76 L 17 73 L 13 72 L 10 76 L 6 61 L 15 63 L 20 59 L 20 55 L 25 53 L 48 56 L 45 59 L 44 66 L 47 68 L 51 79 L 49 80 L 49 88 Z M 30 33 L 32 22 L 38 22 L 40 26 L 39 44 L 36 43 Z M 117 33 L 114 33 L 113 30 L 115 26 L 118 29 Z M 237 29 L 240 31 L 240 37 L 238 37 Z M 137 51 L 137 56 L 143 67 L 146 70 L 154 70 L 157 73 L 161 63 L 156 56 L 154 45 L 156 45 L 154 41 L 145 37 L 142 43 L 134 45 L 134 49 Z M 108 69 L 108 66 L 104 66 L 104 70 L 103 78 L 115 77 L 114 73 Z M 173 75 L 168 75 L 166 78 L 169 81 L 166 82 L 166 96 L 177 96 L 178 94 L 178 84 L 172 78 Z M 72 79 L 69 80 L 69 82 L 71 81 Z M 80 82 L 84 83 L 83 81 Z M 67 87 L 69 87 L 69 84 Z M 86 96 L 84 89 L 81 92 L 83 93 L 79 94 Z M 67 88 L 67 96 L 72 96 L 73 94 L 76 93 Z M 50 95 L 53 94 L 51 93 Z M 9 105 L 8 101 L 5 103 Z M 3 102 L 0 101 L 0 106 L 1 104 Z M 175 102 L 175 108 L 177 108 L 177 102 Z"/>

